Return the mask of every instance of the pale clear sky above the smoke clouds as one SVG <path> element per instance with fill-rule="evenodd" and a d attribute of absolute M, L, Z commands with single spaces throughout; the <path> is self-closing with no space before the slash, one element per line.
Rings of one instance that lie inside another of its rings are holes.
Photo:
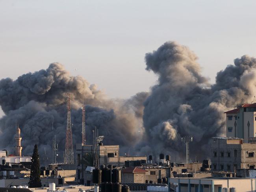
<path fill-rule="evenodd" d="M 234 58 L 256 56 L 255 10 L 255 0 L 0 0 L 0 79 L 59 62 L 128 98 L 156 82 L 145 53 L 177 41 L 214 82 Z"/>

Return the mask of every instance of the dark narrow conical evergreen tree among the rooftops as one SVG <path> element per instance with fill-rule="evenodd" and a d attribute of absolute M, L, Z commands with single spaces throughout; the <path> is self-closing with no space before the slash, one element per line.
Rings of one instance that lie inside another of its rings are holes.
<path fill-rule="evenodd" d="M 40 179 L 40 162 L 39 162 L 37 144 L 35 144 L 31 162 L 32 162 L 32 165 L 30 170 L 30 181 L 28 182 L 28 186 L 30 188 L 41 187 L 42 183 Z"/>

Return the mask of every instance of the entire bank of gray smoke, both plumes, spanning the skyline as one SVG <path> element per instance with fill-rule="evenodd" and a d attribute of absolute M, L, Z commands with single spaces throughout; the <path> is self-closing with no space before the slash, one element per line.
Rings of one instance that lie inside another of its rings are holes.
<path fill-rule="evenodd" d="M 23 154 L 39 144 L 41 162 L 52 161 L 52 122 L 63 161 L 66 133 L 66 92 L 71 93 L 73 144 L 81 142 L 82 106 L 86 104 L 86 137 L 98 127 L 104 144 L 119 144 L 122 153 L 169 153 L 184 160 L 184 135 L 194 137 L 191 158 L 209 156 L 211 137 L 225 135 L 224 111 L 241 103 L 256 102 L 256 59 L 247 55 L 217 73 L 210 85 L 201 74 L 197 56 L 186 46 L 166 42 L 145 56 L 148 71 L 158 75 L 150 92 L 128 100 L 111 100 L 80 76 L 70 76 L 59 63 L 16 80 L 0 80 L 0 147 L 14 152 L 15 125 L 21 127 Z M 117 79 L 118 81 L 118 79 Z M 46 151 L 46 155 L 45 155 Z M 121 154 L 122 155 L 122 154 Z M 48 161 L 47 161 L 48 158 Z M 157 159 L 157 158 L 156 158 Z"/>

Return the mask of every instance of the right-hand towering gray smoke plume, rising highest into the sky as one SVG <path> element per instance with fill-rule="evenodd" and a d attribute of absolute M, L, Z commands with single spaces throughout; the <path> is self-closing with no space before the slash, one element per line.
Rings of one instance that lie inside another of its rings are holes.
<path fill-rule="evenodd" d="M 166 42 L 146 54 L 145 61 L 146 69 L 159 78 L 143 114 L 147 139 L 154 147 L 143 150 L 169 151 L 173 159 L 174 154 L 182 158 L 180 151 L 185 153 L 185 146 L 181 137 L 192 135 L 190 157 L 206 158 L 210 138 L 225 136 L 224 111 L 256 102 L 256 59 L 247 55 L 218 72 L 214 85 L 202 76 L 197 56 L 176 42 Z"/>

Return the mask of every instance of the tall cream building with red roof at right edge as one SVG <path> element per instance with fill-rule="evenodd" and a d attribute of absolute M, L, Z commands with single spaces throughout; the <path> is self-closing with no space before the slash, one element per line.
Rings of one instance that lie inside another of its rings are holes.
<path fill-rule="evenodd" d="M 226 137 L 243 138 L 245 143 L 256 138 L 256 103 L 243 104 L 225 113 Z"/>

